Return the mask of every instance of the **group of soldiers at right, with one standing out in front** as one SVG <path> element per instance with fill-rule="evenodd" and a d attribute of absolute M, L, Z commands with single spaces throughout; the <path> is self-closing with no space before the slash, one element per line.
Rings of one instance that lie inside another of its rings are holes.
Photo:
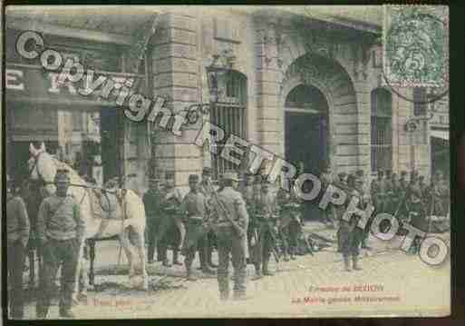
<path fill-rule="evenodd" d="M 351 271 L 350 258 L 352 257 L 354 270 L 360 270 L 358 263 L 359 249 L 371 249 L 367 240 L 371 229 L 371 222 L 377 213 L 386 212 L 392 214 L 400 225 L 403 222 L 411 223 L 423 232 L 432 232 L 431 216 L 446 216 L 449 212 L 449 187 L 441 171 L 437 171 L 431 177 L 431 183 L 425 183 L 424 176 L 413 170 L 410 177 L 406 171 L 402 171 L 400 177 L 391 171 L 378 171 L 377 178 L 371 183 L 367 181 L 363 170 L 356 173 L 338 173 L 334 185 L 343 189 L 348 195 L 344 205 L 329 207 L 325 211 L 326 222 L 337 221 L 338 252 L 344 257 L 344 269 Z M 328 186 L 330 170 L 326 169 L 322 181 L 324 187 Z M 364 209 L 371 203 L 374 212 L 371 219 L 361 230 L 356 227 L 360 216 L 353 215 L 349 222 L 342 219 L 353 197 L 359 199 L 359 208 Z M 418 250 L 414 242 L 412 251 Z"/>

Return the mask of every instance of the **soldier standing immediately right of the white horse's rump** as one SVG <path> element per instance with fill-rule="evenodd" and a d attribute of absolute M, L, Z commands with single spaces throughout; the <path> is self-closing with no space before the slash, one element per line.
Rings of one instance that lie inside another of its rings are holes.
<path fill-rule="evenodd" d="M 157 246 L 157 260 L 163 262 L 163 266 L 170 266 L 167 259 L 167 244 L 164 241 L 164 234 L 159 239 L 157 236 L 160 232 L 161 223 L 166 222 L 165 213 L 162 210 L 162 201 L 165 193 L 160 189 L 160 179 L 150 178 L 149 191 L 144 193 L 142 201 L 145 206 L 145 214 L 147 217 L 147 240 L 148 240 L 148 262 L 153 263 L 153 255 L 155 252 L 155 245 Z M 165 227 L 166 229 L 166 227 Z"/>

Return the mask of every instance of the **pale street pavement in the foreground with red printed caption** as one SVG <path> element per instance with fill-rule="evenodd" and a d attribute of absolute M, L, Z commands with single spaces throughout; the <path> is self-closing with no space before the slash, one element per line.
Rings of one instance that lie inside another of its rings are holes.
<path fill-rule="evenodd" d="M 317 222 L 305 224 L 305 232 L 318 228 L 325 236 L 335 232 Z M 400 251 L 401 242 L 401 237 L 387 243 L 371 237 L 373 249 L 361 252 L 362 271 L 345 272 L 334 247 L 295 261 L 272 260 L 275 276 L 258 281 L 251 280 L 254 268 L 248 265 L 249 299 L 226 302 L 219 301 L 215 275 L 196 270 L 199 280 L 189 282 L 183 266 L 165 268 L 160 262 L 148 265 L 150 290 L 138 290 L 128 281 L 124 258 L 117 264 L 117 242 L 102 242 L 96 249 L 96 286 L 73 309 L 79 319 L 446 315 L 450 262 L 433 268 Z M 196 260 L 194 267 L 198 264 Z M 34 303 L 26 306 L 27 319 L 35 318 Z M 49 318 L 59 318 L 56 305 Z"/>

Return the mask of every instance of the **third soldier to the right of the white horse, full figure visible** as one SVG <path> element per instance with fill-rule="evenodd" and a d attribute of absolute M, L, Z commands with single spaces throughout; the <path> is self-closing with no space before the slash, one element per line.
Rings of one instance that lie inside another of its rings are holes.
<path fill-rule="evenodd" d="M 190 192 L 184 197 L 181 204 L 182 212 L 187 212 L 187 233 L 182 252 L 185 255 L 184 265 L 186 266 L 187 279 L 189 281 L 196 281 L 195 276 L 192 274 L 192 262 L 198 250 L 199 234 L 203 232 L 202 223 L 207 222 L 209 212 L 207 197 L 199 191 L 199 175 L 189 175 L 189 188 Z M 205 237 L 206 234 L 202 236 Z M 205 250 L 205 248 L 199 250 Z M 202 272 L 212 273 L 213 271 L 204 266 Z"/>

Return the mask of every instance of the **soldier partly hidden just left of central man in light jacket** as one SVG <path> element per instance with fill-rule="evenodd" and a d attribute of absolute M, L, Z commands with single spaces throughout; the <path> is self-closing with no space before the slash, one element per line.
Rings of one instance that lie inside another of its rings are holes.
<path fill-rule="evenodd" d="M 207 203 L 208 203 L 208 211 L 211 212 L 211 200 L 208 198 L 208 192 L 206 188 L 208 187 L 208 183 L 211 184 L 211 169 L 208 167 L 203 168 L 202 171 L 202 180 L 200 182 L 199 186 L 199 191 L 200 193 L 203 193 L 204 196 L 207 197 Z M 217 264 L 213 263 L 212 258 L 213 258 L 213 247 L 216 246 L 217 239 L 215 236 L 215 232 L 210 230 L 205 238 L 200 238 L 199 239 L 199 259 L 200 259 L 200 270 L 208 271 L 211 270 L 212 268 L 218 267 Z M 205 243 L 203 243 L 205 242 Z M 201 248 L 205 248 L 205 252 L 201 253 Z"/>

